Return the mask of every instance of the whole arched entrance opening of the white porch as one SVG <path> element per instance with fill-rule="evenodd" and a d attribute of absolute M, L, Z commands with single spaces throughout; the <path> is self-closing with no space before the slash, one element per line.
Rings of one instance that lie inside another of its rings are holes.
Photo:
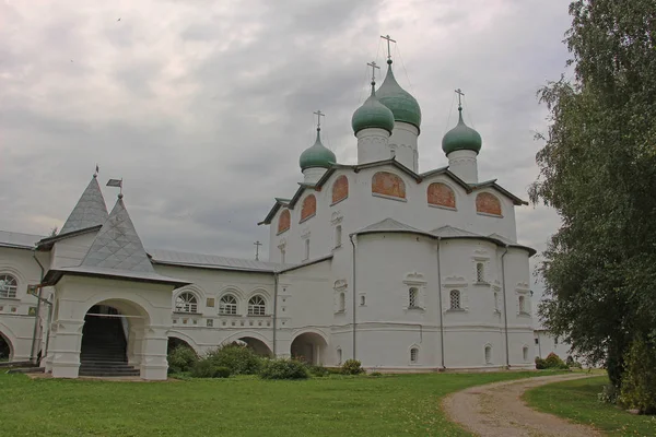
<path fill-rule="evenodd" d="M 105 300 L 84 316 L 80 376 L 138 376 L 148 314 L 126 300 Z"/>

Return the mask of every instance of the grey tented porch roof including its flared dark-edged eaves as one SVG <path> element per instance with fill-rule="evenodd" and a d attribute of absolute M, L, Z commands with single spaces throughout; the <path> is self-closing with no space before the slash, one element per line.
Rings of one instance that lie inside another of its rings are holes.
<path fill-rule="evenodd" d="M 109 217 L 98 231 L 81 264 L 50 270 L 44 282 L 55 284 L 65 274 L 168 283 L 176 286 L 189 284 L 155 272 L 128 214 L 122 194 L 118 196 Z"/>

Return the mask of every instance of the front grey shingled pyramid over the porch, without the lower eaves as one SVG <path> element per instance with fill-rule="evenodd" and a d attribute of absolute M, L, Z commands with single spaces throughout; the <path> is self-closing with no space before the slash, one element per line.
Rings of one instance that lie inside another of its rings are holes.
<path fill-rule="evenodd" d="M 122 194 L 119 194 L 109 217 L 98 231 L 80 265 L 127 272 L 155 272 L 126 210 Z"/>

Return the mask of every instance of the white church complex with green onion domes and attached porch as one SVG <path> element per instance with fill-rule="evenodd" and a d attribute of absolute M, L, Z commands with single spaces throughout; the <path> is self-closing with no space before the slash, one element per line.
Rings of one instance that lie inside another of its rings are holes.
<path fill-rule="evenodd" d="M 0 343 L 54 377 L 165 379 L 167 344 L 243 341 L 268 356 L 383 371 L 534 368 L 529 257 L 515 208 L 479 180 L 459 120 L 448 166 L 419 170 L 421 110 L 393 73 L 355 110 L 358 163 L 316 142 L 296 192 L 259 223 L 269 261 L 144 248 L 94 175 L 56 236 L 0 232 Z M 254 217 L 254 222 L 257 217 Z M 1 350 L 0 350 L 1 351 Z"/>

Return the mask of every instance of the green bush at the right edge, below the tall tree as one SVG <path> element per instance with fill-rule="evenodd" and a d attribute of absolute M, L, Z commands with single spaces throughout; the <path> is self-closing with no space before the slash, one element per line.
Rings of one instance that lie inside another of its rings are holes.
<path fill-rule="evenodd" d="M 620 402 L 643 414 L 656 414 L 656 342 L 634 340 L 625 367 Z"/>

